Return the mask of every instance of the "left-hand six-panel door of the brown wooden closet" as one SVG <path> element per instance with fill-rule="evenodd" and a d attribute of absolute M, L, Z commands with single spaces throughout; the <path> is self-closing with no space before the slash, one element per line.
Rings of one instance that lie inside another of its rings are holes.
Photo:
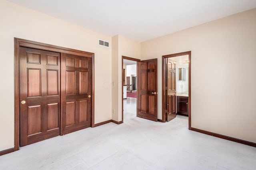
<path fill-rule="evenodd" d="M 60 135 L 60 53 L 20 47 L 20 146 Z"/>

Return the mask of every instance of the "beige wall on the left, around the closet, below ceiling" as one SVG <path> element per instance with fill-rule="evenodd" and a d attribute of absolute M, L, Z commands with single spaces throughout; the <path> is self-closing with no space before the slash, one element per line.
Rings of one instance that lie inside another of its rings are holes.
<path fill-rule="evenodd" d="M 14 37 L 95 53 L 95 123 L 111 119 L 111 37 L 1 0 L 0 151 L 14 147 Z M 110 42 L 110 48 L 98 45 Z"/>

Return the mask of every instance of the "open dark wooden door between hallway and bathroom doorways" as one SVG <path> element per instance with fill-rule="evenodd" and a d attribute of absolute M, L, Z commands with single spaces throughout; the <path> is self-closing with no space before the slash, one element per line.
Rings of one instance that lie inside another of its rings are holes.
<path fill-rule="evenodd" d="M 140 61 L 138 117 L 157 121 L 157 59 Z"/>

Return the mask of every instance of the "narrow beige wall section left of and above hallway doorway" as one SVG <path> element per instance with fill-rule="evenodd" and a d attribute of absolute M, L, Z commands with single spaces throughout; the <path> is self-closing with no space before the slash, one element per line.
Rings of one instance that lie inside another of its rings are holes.
<path fill-rule="evenodd" d="M 122 35 L 112 37 L 112 41 L 112 119 L 122 121 L 122 56 L 140 59 L 140 43 Z"/>

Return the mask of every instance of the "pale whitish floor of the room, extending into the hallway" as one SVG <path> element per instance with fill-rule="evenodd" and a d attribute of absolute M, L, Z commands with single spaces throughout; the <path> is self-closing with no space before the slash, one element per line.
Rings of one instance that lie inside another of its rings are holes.
<path fill-rule="evenodd" d="M 124 123 L 108 123 L 28 145 L 0 156 L 0 170 L 255 170 L 256 148 L 136 117 L 124 100 Z"/>

